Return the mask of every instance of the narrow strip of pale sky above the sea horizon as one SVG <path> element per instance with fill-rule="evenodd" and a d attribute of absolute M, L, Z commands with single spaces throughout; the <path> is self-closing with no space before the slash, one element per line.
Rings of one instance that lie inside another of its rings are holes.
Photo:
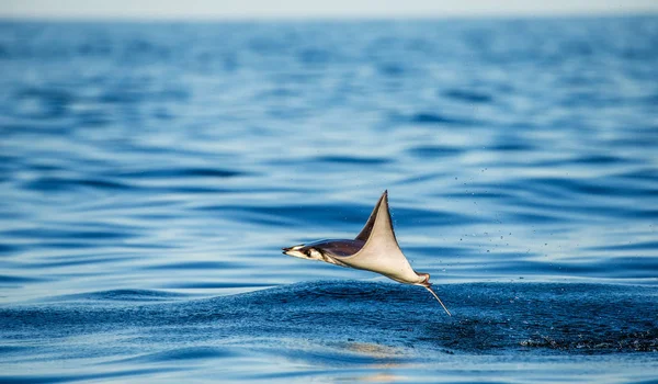
<path fill-rule="evenodd" d="M 305 19 L 658 14 L 658 0 L 0 0 L 3 19 Z"/>

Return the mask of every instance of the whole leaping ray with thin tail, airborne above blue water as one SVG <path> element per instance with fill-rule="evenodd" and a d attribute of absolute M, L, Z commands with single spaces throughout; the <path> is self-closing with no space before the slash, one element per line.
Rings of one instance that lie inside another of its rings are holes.
<path fill-rule="evenodd" d="M 423 286 L 447 310 L 432 291 L 429 273 L 418 273 L 400 250 L 388 210 L 388 191 L 384 191 L 367 222 L 354 240 L 319 240 L 283 248 L 283 253 L 300 259 L 326 261 L 336 266 L 381 273 L 399 283 Z"/>

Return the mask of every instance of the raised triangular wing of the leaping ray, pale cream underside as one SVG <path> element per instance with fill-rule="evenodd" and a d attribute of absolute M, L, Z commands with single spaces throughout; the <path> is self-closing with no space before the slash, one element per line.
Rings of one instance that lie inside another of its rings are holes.
<path fill-rule="evenodd" d="M 388 211 L 387 191 L 379 197 L 356 240 L 365 241 L 365 245 L 359 252 L 341 258 L 343 263 L 384 274 L 400 283 L 417 284 L 423 280 L 413 271 L 397 244 Z"/>

